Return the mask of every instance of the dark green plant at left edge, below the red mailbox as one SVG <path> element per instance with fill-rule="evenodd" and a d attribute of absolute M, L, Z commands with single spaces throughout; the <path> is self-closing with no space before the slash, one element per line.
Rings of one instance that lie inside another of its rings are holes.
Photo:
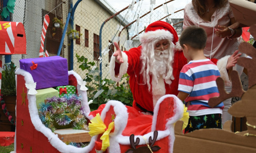
<path fill-rule="evenodd" d="M 3 66 L 1 94 L 16 95 L 15 70 L 16 66 L 13 62 Z"/>

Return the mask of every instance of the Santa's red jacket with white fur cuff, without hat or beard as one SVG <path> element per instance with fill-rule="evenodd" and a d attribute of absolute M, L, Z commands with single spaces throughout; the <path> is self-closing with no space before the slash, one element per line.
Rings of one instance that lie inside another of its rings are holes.
<path fill-rule="evenodd" d="M 129 74 L 130 88 L 134 98 L 133 107 L 141 112 L 146 112 L 146 111 L 154 112 L 153 94 L 152 94 L 153 87 L 151 85 L 151 90 L 148 91 L 147 84 L 143 82 L 143 75 L 140 74 L 140 70 L 142 67 L 140 56 L 141 56 L 141 46 L 137 48 L 131 48 L 129 51 L 122 52 L 122 58 L 123 58 L 122 64 L 116 63 L 115 57 L 113 56 L 110 62 L 110 74 L 112 79 L 116 82 L 120 81 L 123 74 L 125 73 Z M 211 61 L 216 64 L 218 60 L 211 59 Z M 222 60 L 219 60 L 219 61 L 222 61 Z M 224 59 L 224 62 L 226 61 L 227 61 L 227 58 Z M 165 94 L 178 95 L 179 75 L 182 67 L 185 64 L 187 64 L 187 59 L 184 57 L 183 52 L 175 51 L 174 62 L 173 62 L 173 76 L 175 79 L 172 80 L 172 84 L 170 85 L 165 83 Z M 221 64 L 221 65 L 222 65 L 221 67 L 226 66 L 225 64 L 224 65 Z M 224 73 L 226 73 L 225 71 L 226 69 L 224 70 Z M 152 82 L 152 78 L 150 82 Z"/>

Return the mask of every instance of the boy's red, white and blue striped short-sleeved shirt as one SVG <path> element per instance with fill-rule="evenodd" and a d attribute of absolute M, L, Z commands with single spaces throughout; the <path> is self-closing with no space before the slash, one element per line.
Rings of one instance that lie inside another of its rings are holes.
<path fill-rule="evenodd" d="M 211 108 L 208 100 L 219 96 L 216 79 L 220 77 L 218 67 L 209 59 L 190 61 L 180 72 L 178 90 L 188 93 L 185 102 L 190 101 L 189 116 L 222 114 L 223 103 Z"/>

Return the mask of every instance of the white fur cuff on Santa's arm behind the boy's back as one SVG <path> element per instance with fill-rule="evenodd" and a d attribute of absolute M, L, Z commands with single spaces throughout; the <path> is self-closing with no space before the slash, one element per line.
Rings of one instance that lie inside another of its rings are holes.
<path fill-rule="evenodd" d="M 226 69 L 226 65 L 227 65 L 227 60 L 229 56 L 225 56 L 221 59 L 219 59 L 219 61 L 217 62 L 217 67 L 220 70 L 221 73 L 221 78 L 224 80 L 225 86 L 231 86 L 231 82 L 229 81 L 229 77 L 228 77 L 228 73 L 227 73 L 227 69 Z"/>

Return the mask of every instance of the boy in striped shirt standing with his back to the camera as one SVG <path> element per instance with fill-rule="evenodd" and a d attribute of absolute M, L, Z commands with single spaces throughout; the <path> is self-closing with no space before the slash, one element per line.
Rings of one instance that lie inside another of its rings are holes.
<path fill-rule="evenodd" d="M 223 103 L 211 108 L 210 97 L 219 96 L 216 79 L 220 77 L 218 67 L 204 56 L 207 35 L 203 28 L 191 26 L 183 30 L 180 45 L 189 61 L 180 72 L 178 98 L 188 106 L 189 120 L 184 133 L 198 129 L 221 129 Z"/>

